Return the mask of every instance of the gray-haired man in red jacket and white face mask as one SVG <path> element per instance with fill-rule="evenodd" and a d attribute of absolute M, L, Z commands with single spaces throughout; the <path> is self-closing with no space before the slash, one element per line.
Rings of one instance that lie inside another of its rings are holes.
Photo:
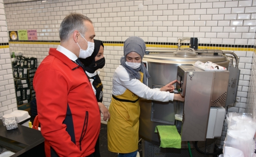
<path fill-rule="evenodd" d="M 95 37 L 90 18 L 70 13 L 60 24 L 60 45 L 50 48 L 33 85 L 47 157 L 93 157 L 100 112 L 78 58 L 89 57 Z"/>

